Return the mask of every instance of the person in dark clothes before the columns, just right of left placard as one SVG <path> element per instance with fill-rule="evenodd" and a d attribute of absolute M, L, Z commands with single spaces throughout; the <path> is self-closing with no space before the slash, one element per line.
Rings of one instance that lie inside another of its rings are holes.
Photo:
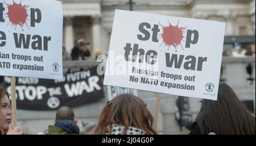
<path fill-rule="evenodd" d="M 90 56 L 88 45 L 84 39 L 79 39 L 75 43 L 75 47 L 71 51 L 72 60 L 85 60 L 85 57 Z"/>

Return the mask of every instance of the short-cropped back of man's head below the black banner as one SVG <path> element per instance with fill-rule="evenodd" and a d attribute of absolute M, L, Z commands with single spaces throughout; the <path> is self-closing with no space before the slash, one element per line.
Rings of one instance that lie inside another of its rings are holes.
<path fill-rule="evenodd" d="M 74 120 L 75 114 L 73 110 L 67 106 L 60 107 L 56 112 L 55 121 L 58 120 Z"/>

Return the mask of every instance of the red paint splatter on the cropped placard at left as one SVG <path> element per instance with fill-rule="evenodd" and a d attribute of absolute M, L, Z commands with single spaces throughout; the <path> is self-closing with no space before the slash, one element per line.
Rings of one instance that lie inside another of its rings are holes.
<path fill-rule="evenodd" d="M 6 2 L 5 2 L 6 3 Z M 15 3 L 13 0 L 13 4 L 9 5 L 7 4 L 7 8 L 8 8 L 8 12 L 6 13 L 7 16 L 9 17 L 10 22 L 7 24 L 7 26 L 11 23 L 11 26 L 15 26 L 15 30 L 16 30 L 16 26 L 19 25 L 20 27 L 22 27 L 22 31 L 23 31 L 23 26 L 24 24 L 27 25 L 26 21 L 27 21 L 27 5 L 22 5 L 21 1 L 19 3 Z M 28 25 L 27 25 L 28 27 Z M 28 27 L 29 28 L 29 27 Z"/>

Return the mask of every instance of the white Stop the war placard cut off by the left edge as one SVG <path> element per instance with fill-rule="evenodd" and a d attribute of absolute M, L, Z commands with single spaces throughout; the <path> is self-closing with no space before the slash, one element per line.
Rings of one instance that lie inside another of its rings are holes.
<path fill-rule="evenodd" d="M 60 1 L 0 1 L 0 75 L 62 79 Z"/>

